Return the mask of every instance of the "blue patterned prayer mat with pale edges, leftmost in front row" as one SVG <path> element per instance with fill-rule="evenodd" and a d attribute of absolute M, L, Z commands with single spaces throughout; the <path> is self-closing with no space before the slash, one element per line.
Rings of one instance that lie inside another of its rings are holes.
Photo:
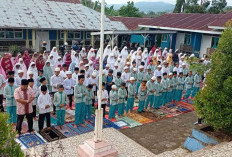
<path fill-rule="evenodd" d="M 46 143 L 46 141 L 37 132 L 35 134 L 26 133 L 20 135 L 16 140 L 22 148 L 31 148 Z"/>

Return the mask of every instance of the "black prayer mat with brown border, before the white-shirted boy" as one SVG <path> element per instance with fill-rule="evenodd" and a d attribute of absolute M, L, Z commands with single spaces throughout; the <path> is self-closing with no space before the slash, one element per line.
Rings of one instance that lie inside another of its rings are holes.
<path fill-rule="evenodd" d="M 53 142 L 56 140 L 66 138 L 61 132 L 56 130 L 56 128 L 54 128 L 53 126 L 50 129 L 45 128 L 43 131 L 40 132 L 40 135 L 48 142 Z"/>

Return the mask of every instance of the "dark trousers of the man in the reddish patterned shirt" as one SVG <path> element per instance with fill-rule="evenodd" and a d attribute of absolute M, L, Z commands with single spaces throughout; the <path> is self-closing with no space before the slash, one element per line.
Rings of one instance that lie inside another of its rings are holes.
<path fill-rule="evenodd" d="M 25 116 L 27 118 L 27 123 L 28 123 L 28 132 L 33 131 L 33 116 L 32 116 L 32 113 L 24 114 L 24 115 L 17 115 L 16 131 L 18 132 L 18 134 L 21 134 L 22 123 L 23 123 L 23 119 L 24 119 Z"/>

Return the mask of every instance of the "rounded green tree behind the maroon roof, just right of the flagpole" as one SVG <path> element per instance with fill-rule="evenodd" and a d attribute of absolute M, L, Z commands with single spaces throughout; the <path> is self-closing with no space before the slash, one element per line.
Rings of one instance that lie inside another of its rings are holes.
<path fill-rule="evenodd" d="M 127 2 L 126 6 L 122 6 L 118 10 L 119 16 L 124 17 L 142 17 L 142 14 L 139 12 L 139 9 L 134 6 L 134 2 Z"/>

